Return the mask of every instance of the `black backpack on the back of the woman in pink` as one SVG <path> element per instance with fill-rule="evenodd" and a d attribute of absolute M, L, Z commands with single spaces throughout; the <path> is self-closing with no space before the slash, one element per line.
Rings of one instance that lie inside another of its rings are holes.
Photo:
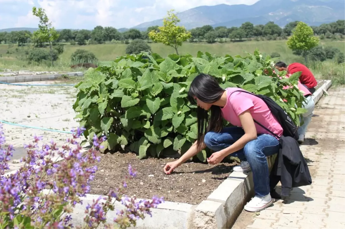
<path fill-rule="evenodd" d="M 237 91 L 245 92 L 245 93 L 248 93 L 250 95 L 254 95 L 254 96 L 262 99 L 266 103 L 269 110 L 272 112 L 273 116 L 277 119 L 280 126 L 282 126 L 283 136 L 292 137 L 295 140 L 298 140 L 299 136 L 298 136 L 297 127 L 295 126 L 295 123 L 288 116 L 288 114 L 285 112 L 285 110 L 283 108 L 281 108 L 275 101 L 273 101 L 271 98 L 269 98 L 268 96 L 265 96 L 265 95 L 256 95 L 256 94 L 253 94 L 252 92 L 242 91 L 242 90 L 237 90 Z M 231 92 L 231 94 L 233 94 L 234 92 L 236 92 L 236 91 Z M 273 133 L 272 131 L 270 131 L 266 127 L 264 127 L 262 124 L 260 124 L 256 120 L 254 120 L 254 122 L 279 139 L 279 137 L 275 133 Z"/>

